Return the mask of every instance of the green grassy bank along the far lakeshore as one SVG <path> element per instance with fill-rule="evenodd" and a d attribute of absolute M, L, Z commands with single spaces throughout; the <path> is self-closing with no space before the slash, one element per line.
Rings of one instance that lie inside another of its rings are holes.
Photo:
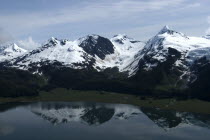
<path fill-rule="evenodd" d="M 37 101 L 65 101 L 65 102 L 104 102 L 132 104 L 143 107 L 158 107 L 176 111 L 196 112 L 210 114 L 210 102 L 201 100 L 176 100 L 144 98 L 128 94 L 99 92 L 99 91 L 74 91 L 55 89 L 51 92 L 41 92 L 37 97 L 0 98 L 0 103 L 5 102 L 37 102 Z"/>

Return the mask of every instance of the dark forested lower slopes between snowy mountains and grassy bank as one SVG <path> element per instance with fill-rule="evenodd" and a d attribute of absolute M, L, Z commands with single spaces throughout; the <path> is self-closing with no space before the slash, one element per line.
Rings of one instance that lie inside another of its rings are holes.
<path fill-rule="evenodd" d="M 180 86 L 183 85 L 182 83 L 176 83 L 180 73 L 178 69 L 172 68 L 174 61 L 174 58 L 169 58 L 153 70 L 141 69 L 129 78 L 127 78 L 127 73 L 119 73 L 117 68 L 98 72 L 94 69 L 75 70 L 61 65 L 44 65 L 39 69 L 43 72 L 42 76 L 13 68 L 1 68 L 0 96 L 36 96 L 40 90 L 50 91 L 61 87 L 156 98 L 179 97 L 210 100 L 210 64 L 196 66 L 197 80 L 188 85 L 189 88 L 184 89 Z"/>

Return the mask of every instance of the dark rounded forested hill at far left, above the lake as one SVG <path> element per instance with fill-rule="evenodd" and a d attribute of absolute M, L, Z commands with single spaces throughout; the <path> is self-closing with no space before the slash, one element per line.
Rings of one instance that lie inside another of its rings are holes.
<path fill-rule="evenodd" d="M 0 96 L 18 97 L 38 95 L 41 78 L 27 71 L 13 68 L 0 69 Z"/>

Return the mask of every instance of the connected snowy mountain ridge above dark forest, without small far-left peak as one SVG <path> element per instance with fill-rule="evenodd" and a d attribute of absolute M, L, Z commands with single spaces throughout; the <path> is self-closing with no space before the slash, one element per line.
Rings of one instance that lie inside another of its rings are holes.
<path fill-rule="evenodd" d="M 167 25 L 146 43 L 123 34 L 115 35 L 111 39 L 92 34 L 75 41 L 52 37 L 35 50 L 25 53 L 26 50 L 22 49 L 24 53 L 11 56 L 10 66 L 27 70 L 33 63 L 39 67 L 41 62 L 48 61 L 60 62 L 75 69 L 91 66 L 97 71 L 117 67 L 120 72 L 128 72 L 132 76 L 139 67 L 150 70 L 158 63 L 166 61 L 169 48 L 181 53 L 174 65 L 188 69 L 193 61 L 210 57 L 209 44 L 210 41 L 205 38 L 188 37 Z M 15 46 L 18 47 L 16 44 Z"/>

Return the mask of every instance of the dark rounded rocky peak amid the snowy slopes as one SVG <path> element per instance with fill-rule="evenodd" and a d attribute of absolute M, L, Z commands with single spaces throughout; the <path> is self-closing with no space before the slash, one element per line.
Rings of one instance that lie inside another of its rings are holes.
<path fill-rule="evenodd" d="M 107 38 L 98 35 L 88 35 L 80 38 L 79 41 L 79 46 L 92 56 L 96 55 L 104 59 L 106 55 L 114 53 L 114 45 Z"/>

